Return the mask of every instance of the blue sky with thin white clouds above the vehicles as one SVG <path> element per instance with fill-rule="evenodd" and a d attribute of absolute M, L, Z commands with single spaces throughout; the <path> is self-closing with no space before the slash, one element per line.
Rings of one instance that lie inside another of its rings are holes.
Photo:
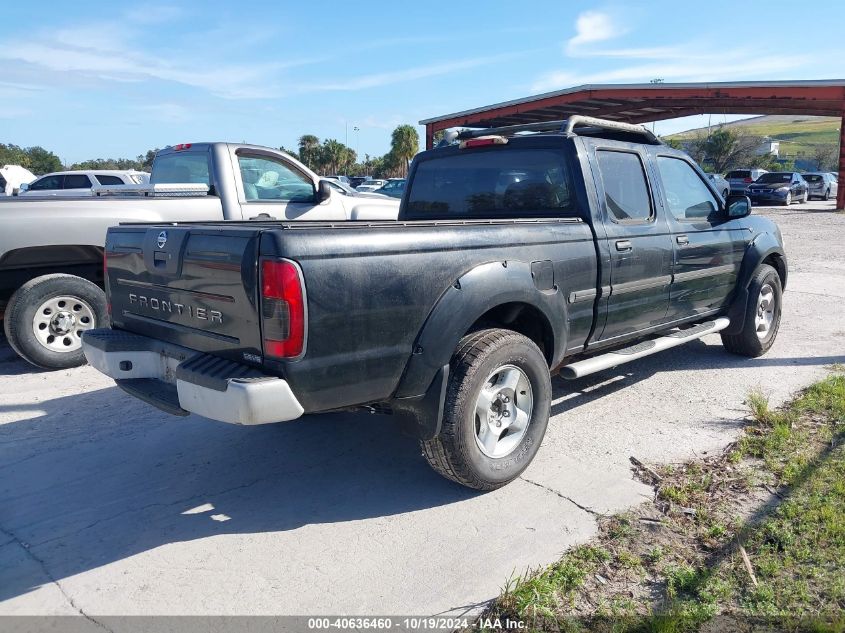
<path fill-rule="evenodd" d="M 0 142 L 66 164 L 302 134 L 374 156 L 399 124 L 586 83 L 845 77 L 839 0 L 3 4 Z"/>

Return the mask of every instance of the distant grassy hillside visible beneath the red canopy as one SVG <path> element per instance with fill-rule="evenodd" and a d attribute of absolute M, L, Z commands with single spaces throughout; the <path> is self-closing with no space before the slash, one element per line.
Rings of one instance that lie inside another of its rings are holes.
<path fill-rule="evenodd" d="M 714 117 L 715 118 L 715 117 Z M 781 156 L 800 156 L 812 152 L 814 145 L 839 144 L 839 119 L 816 116 L 768 115 L 722 124 L 734 131 L 742 130 L 756 136 L 769 136 L 781 141 Z M 713 127 L 716 127 L 714 124 Z M 706 134 L 707 128 L 697 128 L 671 134 L 668 138 L 686 139 Z"/>

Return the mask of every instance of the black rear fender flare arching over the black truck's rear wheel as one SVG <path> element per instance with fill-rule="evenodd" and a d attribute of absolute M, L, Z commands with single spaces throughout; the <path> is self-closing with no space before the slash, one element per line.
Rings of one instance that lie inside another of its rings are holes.
<path fill-rule="evenodd" d="M 461 338 L 489 310 L 506 303 L 524 303 L 547 320 L 554 341 L 551 365 L 559 364 L 567 332 L 566 300 L 558 287 L 539 290 L 531 264 L 497 261 L 482 264 L 459 277 L 441 296 L 414 342 L 396 398 L 425 393 L 435 375 L 449 364 Z"/>

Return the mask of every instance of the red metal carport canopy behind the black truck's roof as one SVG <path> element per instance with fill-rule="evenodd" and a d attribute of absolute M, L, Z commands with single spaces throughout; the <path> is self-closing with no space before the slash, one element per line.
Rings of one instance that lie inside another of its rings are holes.
<path fill-rule="evenodd" d="M 717 83 L 589 84 L 420 121 L 426 148 L 453 127 L 498 127 L 565 119 L 574 114 L 649 123 L 692 114 L 794 114 L 839 117 L 845 123 L 845 79 Z M 845 125 L 839 129 L 839 180 L 845 177 Z M 845 207 L 845 186 L 838 208 Z"/>

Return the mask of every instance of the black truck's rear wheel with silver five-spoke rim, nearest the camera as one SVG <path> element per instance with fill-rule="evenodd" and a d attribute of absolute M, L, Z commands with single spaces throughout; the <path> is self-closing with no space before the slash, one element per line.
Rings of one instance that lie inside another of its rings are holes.
<path fill-rule="evenodd" d="M 440 435 L 420 442 L 423 456 L 434 470 L 463 486 L 500 488 L 537 454 L 549 421 L 551 392 L 549 366 L 533 341 L 502 329 L 468 334 L 450 363 Z M 482 448 L 482 439 L 491 438 Z"/>

